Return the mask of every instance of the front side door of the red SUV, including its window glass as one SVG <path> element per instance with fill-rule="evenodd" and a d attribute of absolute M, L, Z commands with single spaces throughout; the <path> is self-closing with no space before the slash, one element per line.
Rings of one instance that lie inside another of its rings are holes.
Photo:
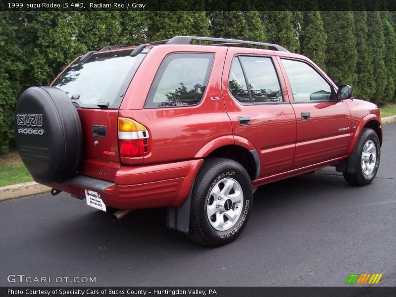
<path fill-rule="evenodd" d="M 308 61 L 280 58 L 293 93 L 297 138 L 293 169 L 342 157 L 351 135 L 350 113 L 335 87 Z"/>

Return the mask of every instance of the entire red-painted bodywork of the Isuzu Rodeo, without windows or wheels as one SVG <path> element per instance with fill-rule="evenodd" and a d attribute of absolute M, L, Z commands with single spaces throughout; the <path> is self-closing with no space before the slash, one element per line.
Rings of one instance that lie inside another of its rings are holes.
<path fill-rule="evenodd" d="M 144 108 L 159 66 L 174 52 L 214 55 L 203 99 L 196 106 Z M 242 105 L 234 99 L 228 92 L 228 77 L 236 55 L 270 57 L 278 73 L 284 101 Z M 337 90 L 318 66 L 294 53 L 199 45 L 151 47 L 119 110 L 78 109 L 84 137 L 79 173 L 114 182 L 114 186 L 99 194 L 106 205 L 128 209 L 182 205 L 204 157 L 224 146 L 237 145 L 257 151 L 260 175 L 252 181 L 253 187 L 337 164 L 351 153 L 368 122 L 381 123 L 378 107 L 357 99 L 294 102 L 281 56 L 309 63 Z M 306 111 L 311 115 L 309 121 L 301 120 L 301 112 Z M 239 116 L 250 117 L 251 125 L 241 126 Z M 147 128 L 148 155 L 135 158 L 119 155 L 118 117 L 134 119 Z M 94 137 L 92 125 L 106 126 L 106 138 Z M 340 130 L 346 127 L 349 129 Z M 98 141 L 97 146 L 95 141 Z M 84 189 L 67 183 L 48 186 L 84 195 Z"/>

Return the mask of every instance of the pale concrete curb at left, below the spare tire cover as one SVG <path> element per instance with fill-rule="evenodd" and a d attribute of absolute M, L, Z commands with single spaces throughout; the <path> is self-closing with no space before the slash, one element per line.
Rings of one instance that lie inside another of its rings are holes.
<path fill-rule="evenodd" d="M 0 187 L 0 201 L 49 192 L 51 188 L 36 182 Z"/>

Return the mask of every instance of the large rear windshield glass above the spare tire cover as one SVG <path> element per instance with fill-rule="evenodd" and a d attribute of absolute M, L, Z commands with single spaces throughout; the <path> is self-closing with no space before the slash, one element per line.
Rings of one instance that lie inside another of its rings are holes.
<path fill-rule="evenodd" d="M 109 103 L 108 108 L 119 108 L 148 50 L 135 57 L 130 56 L 131 52 L 132 49 L 94 53 L 82 63 L 77 59 L 52 86 L 81 107 L 99 108 L 97 104 L 104 101 Z"/>

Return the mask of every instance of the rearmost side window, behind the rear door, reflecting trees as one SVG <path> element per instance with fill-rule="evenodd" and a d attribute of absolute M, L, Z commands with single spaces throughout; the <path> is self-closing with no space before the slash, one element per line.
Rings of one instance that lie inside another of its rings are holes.
<path fill-rule="evenodd" d="M 197 105 L 205 93 L 212 63 L 210 53 L 168 55 L 155 76 L 145 107 Z"/>

